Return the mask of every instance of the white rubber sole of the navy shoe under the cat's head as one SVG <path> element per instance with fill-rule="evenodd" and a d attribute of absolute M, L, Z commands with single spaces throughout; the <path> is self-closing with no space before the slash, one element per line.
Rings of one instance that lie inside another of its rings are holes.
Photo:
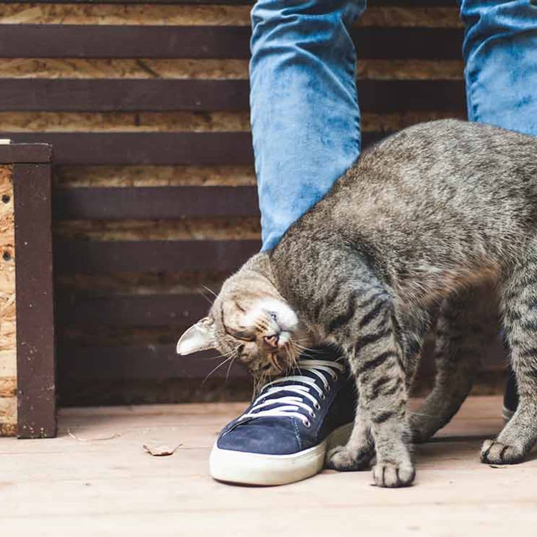
<path fill-rule="evenodd" d="M 318 474 L 326 452 L 351 436 L 352 423 L 338 427 L 321 444 L 289 455 L 264 455 L 220 449 L 216 442 L 209 458 L 209 472 L 217 481 L 243 485 L 285 485 Z"/>

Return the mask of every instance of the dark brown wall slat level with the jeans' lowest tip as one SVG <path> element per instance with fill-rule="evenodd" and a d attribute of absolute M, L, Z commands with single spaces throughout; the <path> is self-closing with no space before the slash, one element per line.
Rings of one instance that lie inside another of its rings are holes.
<path fill-rule="evenodd" d="M 74 241 L 57 238 L 57 273 L 234 271 L 259 241 Z"/>

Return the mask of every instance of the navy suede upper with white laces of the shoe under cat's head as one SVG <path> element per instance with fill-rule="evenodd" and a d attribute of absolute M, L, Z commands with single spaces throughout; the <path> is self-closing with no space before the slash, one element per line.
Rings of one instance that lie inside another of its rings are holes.
<path fill-rule="evenodd" d="M 265 384 L 248 409 L 222 429 L 216 445 L 248 453 L 297 453 L 352 422 L 354 411 L 354 381 L 335 351 L 323 349 Z"/>

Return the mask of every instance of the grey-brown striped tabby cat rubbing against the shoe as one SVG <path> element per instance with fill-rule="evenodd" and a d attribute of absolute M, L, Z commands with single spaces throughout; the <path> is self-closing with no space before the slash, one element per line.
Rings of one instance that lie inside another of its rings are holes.
<path fill-rule="evenodd" d="M 497 311 L 520 403 L 481 460 L 502 465 L 537 440 L 537 139 L 433 121 L 364 151 L 273 250 L 224 283 L 178 351 L 215 347 L 264 382 L 302 347 L 336 345 L 359 398 L 351 438 L 326 466 L 361 469 L 376 455 L 374 482 L 400 487 L 415 477 L 411 440 L 429 438 L 466 397 Z M 410 413 L 435 321 L 436 386 Z"/>

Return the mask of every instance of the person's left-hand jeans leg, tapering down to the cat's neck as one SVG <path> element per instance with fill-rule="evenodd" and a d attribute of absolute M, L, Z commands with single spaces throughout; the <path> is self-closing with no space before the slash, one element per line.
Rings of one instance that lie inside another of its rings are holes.
<path fill-rule="evenodd" d="M 349 28 L 365 0 L 258 0 L 251 121 L 263 250 L 330 190 L 360 151 Z"/>

